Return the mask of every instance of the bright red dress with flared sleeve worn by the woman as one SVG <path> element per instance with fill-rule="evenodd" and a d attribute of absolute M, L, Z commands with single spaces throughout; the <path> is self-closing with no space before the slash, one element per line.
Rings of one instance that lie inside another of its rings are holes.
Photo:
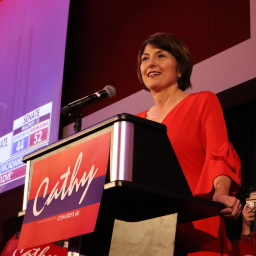
<path fill-rule="evenodd" d="M 146 112 L 137 116 L 146 118 Z M 213 181 L 219 175 L 229 176 L 231 191 L 238 191 L 240 160 L 228 142 L 222 108 L 215 94 L 189 94 L 162 123 L 167 126 L 168 138 L 194 196 L 212 200 Z M 178 226 L 176 255 L 230 254 L 231 246 L 221 217 Z"/>

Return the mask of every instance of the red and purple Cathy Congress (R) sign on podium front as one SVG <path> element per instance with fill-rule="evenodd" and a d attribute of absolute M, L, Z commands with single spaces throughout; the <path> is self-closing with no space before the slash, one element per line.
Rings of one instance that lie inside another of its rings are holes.
<path fill-rule="evenodd" d="M 94 231 L 110 150 L 110 132 L 33 164 L 18 249 Z"/>

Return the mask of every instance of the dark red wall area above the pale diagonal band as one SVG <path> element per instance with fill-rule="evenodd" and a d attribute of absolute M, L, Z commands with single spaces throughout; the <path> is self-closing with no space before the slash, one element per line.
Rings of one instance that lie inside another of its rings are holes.
<path fill-rule="evenodd" d="M 186 42 L 196 64 L 250 38 L 249 1 L 71 1 L 62 106 L 108 84 L 117 89 L 114 99 L 84 109 L 86 116 L 140 91 L 137 53 L 155 32 Z"/>

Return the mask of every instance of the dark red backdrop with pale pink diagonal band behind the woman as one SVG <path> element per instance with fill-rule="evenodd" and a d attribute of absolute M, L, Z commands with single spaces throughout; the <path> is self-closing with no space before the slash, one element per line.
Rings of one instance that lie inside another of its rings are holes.
<path fill-rule="evenodd" d="M 172 33 L 188 45 L 195 64 L 188 92 L 219 93 L 256 77 L 256 1 L 160 2 L 71 1 L 63 106 L 106 84 L 117 89 L 114 99 L 84 108 L 82 128 L 154 105 L 150 93 L 141 90 L 136 58 L 143 40 L 155 32 Z M 240 98 L 238 94 L 228 101 Z M 63 118 L 63 137 L 74 133 L 67 119 Z"/>

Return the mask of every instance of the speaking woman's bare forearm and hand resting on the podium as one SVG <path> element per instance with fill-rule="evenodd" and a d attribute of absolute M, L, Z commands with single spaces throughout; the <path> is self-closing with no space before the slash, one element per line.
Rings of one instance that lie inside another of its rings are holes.
<path fill-rule="evenodd" d="M 220 214 L 226 218 L 236 220 L 242 211 L 240 200 L 229 196 L 231 179 L 228 176 L 220 175 L 214 180 L 215 193 L 212 200 L 223 203 L 227 207 L 220 211 Z"/>

